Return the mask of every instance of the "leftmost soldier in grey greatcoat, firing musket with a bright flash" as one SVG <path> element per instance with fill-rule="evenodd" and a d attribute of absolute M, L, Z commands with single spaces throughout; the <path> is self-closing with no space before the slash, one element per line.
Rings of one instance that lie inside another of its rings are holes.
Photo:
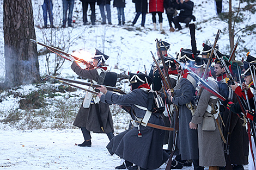
<path fill-rule="evenodd" d="M 77 75 L 91 79 L 92 83 L 96 84 L 100 73 L 107 70 L 107 67 L 103 67 L 103 64 L 108 57 L 96 49 L 93 58 L 93 65 L 95 67 L 90 68 L 90 65 L 87 65 L 86 69 L 82 69 L 72 56 L 69 58 L 73 61 L 71 68 Z M 92 146 L 90 131 L 94 133 L 106 133 L 109 141 L 114 137 L 113 120 L 109 110 L 109 104 L 102 103 L 98 97 L 93 97 L 92 93 L 89 92 L 84 97 L 84 102 L 78 111 L 74 125 L 80 127 L 83 133 L 84 142 L 78 144 L 80 147 Z"/>

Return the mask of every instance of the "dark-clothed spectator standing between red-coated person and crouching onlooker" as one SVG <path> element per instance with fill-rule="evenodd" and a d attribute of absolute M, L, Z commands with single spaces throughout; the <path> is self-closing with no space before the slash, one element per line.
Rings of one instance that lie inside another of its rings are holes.
<path fill-rule="evenodd" d="M 169 26 L 170 26 L 170 32 L 174 32 L 174 28 L 172 25 L 173 22 L 173 16 L 176 14 L 176 0 L 164 0 L 163 1 L 163 7 L 166 9 L 166 15 L 168 18 Z"/>

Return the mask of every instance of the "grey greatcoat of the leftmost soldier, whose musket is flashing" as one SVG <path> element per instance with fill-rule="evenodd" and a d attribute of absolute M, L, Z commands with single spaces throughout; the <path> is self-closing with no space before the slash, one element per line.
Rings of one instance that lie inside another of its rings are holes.
<path fill-rule="evenodd" d="M 99 74 L 97 73 L 96 69 L 82 69 L 76 62 L 72 63 L 71 68 L 77 75 L 80 75 L 81 77 L 95 81 L 97 81 L 99 78 Z M 93 131 L 95 133 L 108 134 L 114 132 L 113 119 L 109 110 L 109 104 L 99 102 L 99 111 L 104 132 L 100 128 L 95 104 L 90 104 L 89 108 L 83 108 L 82 104 L 76 116 L 74 125 L 77 127 L 85 127 L 87 130 Z"/>

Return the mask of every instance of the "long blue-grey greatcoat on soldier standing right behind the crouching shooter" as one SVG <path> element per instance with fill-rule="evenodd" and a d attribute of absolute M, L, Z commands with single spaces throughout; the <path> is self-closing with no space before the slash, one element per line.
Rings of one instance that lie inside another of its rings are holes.
<path fill-rule="evenodd" d="M 191 102 L 193 99 L 195 92 L 196 90 L 194 89 L 194 86 L 185 78 L 181 78 L 180 80 L 180 89 L 174 90 L 175 96 L 173 97 L 173 103 L 179 106 L 179 132 L 177 144 L 181 160 L 199 159 L 197 130 L 192 130 L 189 127 L 192 114 L 186 106 L 186 103 Z"/>

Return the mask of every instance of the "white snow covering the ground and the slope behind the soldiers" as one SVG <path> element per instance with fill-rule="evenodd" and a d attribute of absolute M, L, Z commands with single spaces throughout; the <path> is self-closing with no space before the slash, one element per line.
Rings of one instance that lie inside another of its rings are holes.
<path fill-rule="evenodd" d="M 136 27 L 131 27 L 133 17 L 135 17 L 135 4 L 131 1 L 126 1 L 125 17 L 126 25 L 117 26 L 117 10 L 112 10 L 113 25 L 102 26 L 99 7 L 96 5 L 96 26 L 83 26 L 82 24 L 82 5 L 81 2 L 75 0 L 74 8 L 74 28 L 57 28 L 57 29 L 40 29 L 42 27 L 42 9 L 38 6 L 38 1 L 33 0 L 34 23 L 36 31 L 36 39 L 40 42 L 53 42 L 53 45 L 65 46 L 65 52 L 72 53 L 73 51 L 87 51 L 94 54 L 94 49 L 109 55 L 110 58 L 106 64 L 109 70 L 115 72 L 144 72 L 146 66 L 149 72 L 151 58 L 150 51 L 156 52 L 155 39 L 162 39 L 170 42 L 171 47 L 168 53 L 175 56 L 175 52 L 179 52 L 180 48 L 191 48 L 190 34 L 185 24 L 181 24 L 184 28 L 180 32 L 170 33 L 166 14 L 163 14 L 163 29 L 153 31 L 153 23 L 151 14 L 147 14 L 145 28 L 141 28 L 141 17 L 136 23 Z M 210 39 L 214 42 L 215 34 L 218 29 L 222 30 L 218 45 L 220 51 L 229 54 L 229 40 L 227 32 L 227 23 L 223 22 L 216 16 L 214 0 L 194 1 L 193 14 L 196 16 L 196 40 L 198 50 L 202 50 L 202 43 Z M 237 7 L 238 1 L 233 1 L 234 7 Z M 0 0 L 3 4 L 3 0 Z M 113 1 L 111 2 L 111 4 Z M 223 1 L 224 11 L 228 11 L 228 1 Z M 89 14 L 89 13 L 88 13 Z M 88 17 L 89 18 L 89 17 Z M 255 15 L 251 20 L 245 23 L 255 23 Z M 54 24 L 60 27 L 62 24 L 62 1 L 54 2 Z M 242 27 L 242 26 L 241 26 Z M 0 8 L 0 28 L 3 28 L 3 8 Z M 157 25 L 159 29 L 159 24 Z M 256 56 L 255 35 L 247 35 L 239 33 L 242 36 L 242 42 L 237 50 L 242 50 L 247 47 L 251 50 L 251 55 Z M 236 39 L 236 38 L 235 38 Z M 3 29 L 0 29 L 0 81 L 5 78 L 5 61 L 4 61 L 4 39 Z M 52 41 L 51 41 L 52 40 Z M 38 46 L 38 50 L 42 49 Z M 247 52 L 237 54 L 237 58 L 241 59 Z M 53 72 L 55 55 L 50 56 L 50 72 Z M 46 67 L 45 55 L 39 56 L 40 74 L 43 77 L 48 74 Z M 77 75 L 70 69 L 70 62 L 65 62 L 63 67 L 58 71 L 60 77 L 74 77 Z M 127 84 L 121 84 L 123 89 L 129 91 Z M 33 90 L 33 86 L 21 87 L 22 93 L 28 93 Z M 84 95 L 81 91 L 80 98 Z M 1 96 L 0 96 L 1 97 Z M 19 110 L 17 98 L 13 95 L 7 98 L 1 98 L 0 110 Z M 113 115 L 117 114 L 112 112 Z M 0 115 L 4 118 L 4 115 Z M 120 133 L 127 127 L 127 115 L 113 116 L 115 133 Z M 46 122 L 47 123 L 47 122 Z M 48 122 L 51 123 L 51 122 Z M 71 125 L 72 126 L 72 125 Z M 25 127 L 26 129 L 26 127 Z M 8 124 L 0 124 L 0 167 L 1 169 L 114 169 L 120 165 L 118 156 L 109 155 L 106 145 L 108 138 L 105 134 L 92 133 L 92 147 L 82 148 L 77 147 L 76 143 L 82 143 L 83 136 L 78 128 L 68 129 L 38 129 L 38 130 L 16 130 L 15 127 L 10 127 Z M 164 169 L 163 165 L 160 169 Z M 246 169 L 248 166 L 245 166 Z M 193 169 L 186 167 L 184 169 Z"/>

